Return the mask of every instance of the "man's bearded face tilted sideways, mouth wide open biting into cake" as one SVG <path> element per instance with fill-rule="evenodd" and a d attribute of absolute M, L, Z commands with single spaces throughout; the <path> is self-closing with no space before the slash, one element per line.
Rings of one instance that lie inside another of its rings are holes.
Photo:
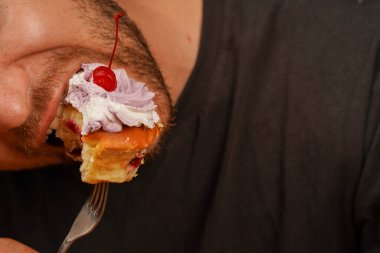
<path fill-rule="evenodd" d="M 70 77 L 82 63 L 107 64 L 117 6 L 98 1 L 0 0 L 0 169 L 60 163 L 62 147 L 45 142 Z M 120 11 L 120 10 L 119 10 Z M 156 92 L 158 113 L 170 99 L 139 32 L 120 20 L 114 68 Z"/>

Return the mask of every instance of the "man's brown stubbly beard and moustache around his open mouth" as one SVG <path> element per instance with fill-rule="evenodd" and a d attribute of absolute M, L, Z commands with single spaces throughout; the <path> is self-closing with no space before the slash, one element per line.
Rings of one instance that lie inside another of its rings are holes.
<path fill-rule="evenodd" d="M 82 1 L 82 3 L 84 2 L 86 1 Z M 94 38 L 103 41 L 105 47 L 112 49 L 115 39 L 113 15 L 122 11 L 122 9 L 117 4 L 110 4 L 108 1 L 93 1 L 92 4 L 82 5 L 81 7 L 92 10 L 91 12 L 85 12 L 92 13 L 92 15 L 81 17 L 89 27 L 89 33 Z M 104 22 L 99 22 L 99 17 L 102 17 Z M 99 27 L 99 24 L 102 24 L 102 26 Z M 150 84 L 149 89 L 156 94 L 154 100 L 158 105 L 158 114 L 165 117 L 164 122 L 168 122 L 171 119 L 171 99 L 161 72 L 147 47 L 145 39 L 128 17 L 120 19 L 119 36 L 120 40 L 114 62 L 125 66 L 127 71 L 128 68 L 131 69 L 138 78 Z M 110 54 L 106 55 L 81 47 L 61 48 L 53 52 L 52 57 L 49 58 L 49 63 L 43 66 L 45 68 L 44 73 L 46 74 L 38 78 L 38 83 L 31 84 L 32 109 L 29 117 L 23 125 L 12 130 L 13 134 L 16 135 L 15 139 L 17 140 L 14 143 L 14 147 L 17 150 L 30 156 L 48 155 L 44 153 L 46 151 L 39 149 L 36 143 L 41 115 L 48 107 L 55 87 L 61 85 L 57 84 L 55 80 L 56 76 L 62 71 L 61 66 L 81 56 L 94 59 L 109 59 Z"/>

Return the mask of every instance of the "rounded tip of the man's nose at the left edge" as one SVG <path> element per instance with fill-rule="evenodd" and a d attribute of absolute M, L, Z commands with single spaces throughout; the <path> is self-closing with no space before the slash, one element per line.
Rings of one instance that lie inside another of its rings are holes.
<path fill-rule="evenodd" d="M 21 126 L 31 112 L 29 79 L 18 66 L 0 68 L 0 132 Z"/>

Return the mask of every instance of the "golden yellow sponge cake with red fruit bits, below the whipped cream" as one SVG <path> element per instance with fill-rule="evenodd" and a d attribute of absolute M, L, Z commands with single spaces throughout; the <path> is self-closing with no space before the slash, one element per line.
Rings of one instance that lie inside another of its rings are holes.
<path fill-rule="evenodd" d="M 82 115 L 71 105 L 63 110 L 57 136 L 64 141 L 67 155 L 82 161 L 82 181 L 122 183 L 137 176 L 146 150 L 155 144 L 160 127 L 124 126 L 121 132 L 98 130 L 81 136 Z"/>

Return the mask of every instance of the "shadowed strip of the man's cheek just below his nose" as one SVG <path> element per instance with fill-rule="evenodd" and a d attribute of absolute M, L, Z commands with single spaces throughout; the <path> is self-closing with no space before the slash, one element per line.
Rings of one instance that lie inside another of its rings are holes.
<path fill-rule="evenodd" d="M 47 167 L 73 161 L 65 155 L 63 147 L 46 145 L 30 155 L 17 150 L 0 150 L 0 170 L 24 170 Z"/>

